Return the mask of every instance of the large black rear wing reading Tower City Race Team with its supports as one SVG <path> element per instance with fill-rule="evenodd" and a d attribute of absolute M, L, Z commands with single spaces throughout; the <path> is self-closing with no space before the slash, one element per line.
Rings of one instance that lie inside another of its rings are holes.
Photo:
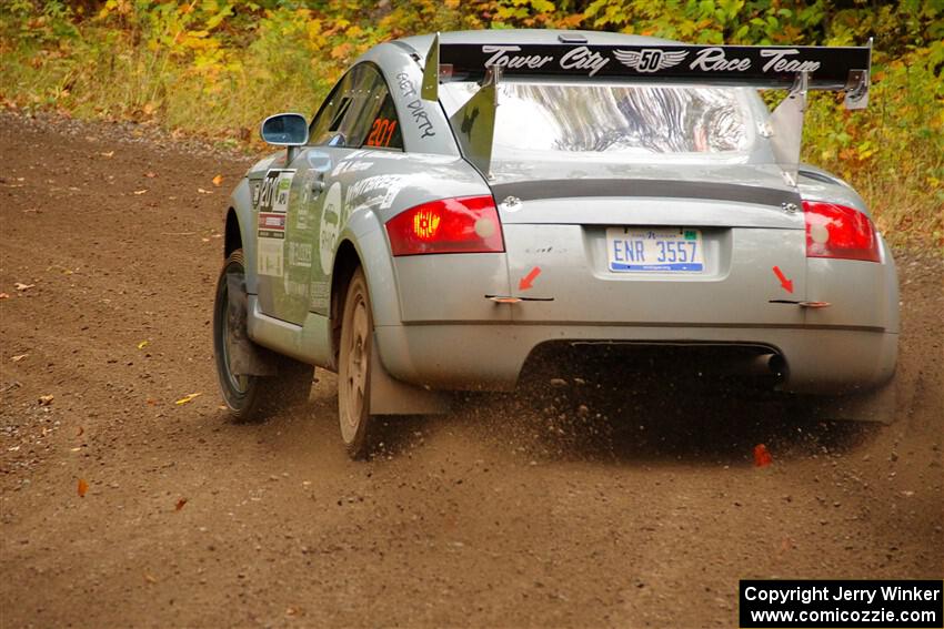
<path fill-rule="evenodd" d="M 819 45 L 595 45 L 580 33 L 558 44 L 440 43 L 433 39 L 423 70 L 422 97 L 439 99 L 439 85 L 476 81 L 482 89 L 452 118 L 463 153 L 488 173 L 499 81 L 626 81 L 741 85 L 790 90 L 769 128 L 777 163 L 795 185 L 807 90 L 845 92 L 848 109 L 868 103 L 872 42 Z"/>

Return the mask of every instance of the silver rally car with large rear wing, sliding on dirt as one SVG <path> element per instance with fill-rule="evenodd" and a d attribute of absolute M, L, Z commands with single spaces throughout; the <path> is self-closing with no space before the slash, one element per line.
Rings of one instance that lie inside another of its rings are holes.
<path fill-rule="evenodd" d="M 807 91 L 865 106 L 870 62 L 551 30 L 376 45 L 310 123 L 263 122 L 284 149 L 232 194 L 227 404 L 265 415 L 337 371 L 362 457 L 376 416 L 511 389 L 543 345 L 691 345 L 886 418 L 894 261 L 858 194 L 800 163 Z M 771 112 L 759 89 L 785 95 Z"/>

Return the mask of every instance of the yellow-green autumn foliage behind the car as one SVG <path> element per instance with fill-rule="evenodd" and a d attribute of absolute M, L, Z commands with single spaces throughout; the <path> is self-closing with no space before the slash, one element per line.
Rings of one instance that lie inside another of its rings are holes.
<path fill-rule="evenodd" d="M 806 159 L 850 179 L 893 241 L 944 246 L 944 0 L 8 0 L 0 100 L 254 142 L 264 115 L 312 112 L 378 42 L 489 28 L 699 43 L 874 38 L 870 108 L 816 94 Z"/>

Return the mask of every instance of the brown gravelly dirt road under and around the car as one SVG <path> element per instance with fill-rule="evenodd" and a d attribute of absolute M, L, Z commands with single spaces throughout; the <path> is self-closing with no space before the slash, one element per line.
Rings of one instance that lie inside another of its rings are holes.
<path fill-rule="evenodd" d="M 892 426 L 561 371 L 353 463 L 332 374 L 264 423 L 220 408 L 247 161 L 10 113 L 0 152 L 3 628 L 734 627 L 741 578 L 944 576 L 937 258 L 898 253 Z"/>

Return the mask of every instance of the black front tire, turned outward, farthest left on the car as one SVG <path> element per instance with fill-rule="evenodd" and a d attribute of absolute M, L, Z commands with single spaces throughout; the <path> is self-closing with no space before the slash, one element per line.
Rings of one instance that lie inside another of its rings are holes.
<path fill-rule="evenodd" d="M 240 420 L 261 419 L 308 400 L 314 367 L 257 345 L 255 348 L 275 367 L 274 376 L 237 376 L 230 371 L 228 352 L 230 345 L 227 339 L 232 339 L 234 334 L 248 339 L 245 317 L 238 316 L 230 307 L 228 287 L 230 274 L 245 275 L 241 248 L 227 257 L 217 281 L 217 300 L 213 305 L 213 354 L 217 376 L 223 400 L 233 417 Z"/>

